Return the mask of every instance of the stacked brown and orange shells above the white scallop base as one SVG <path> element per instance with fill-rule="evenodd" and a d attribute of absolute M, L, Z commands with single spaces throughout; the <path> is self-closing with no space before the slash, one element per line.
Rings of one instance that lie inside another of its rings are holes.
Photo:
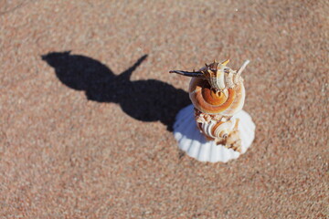
<path fill-rule="evenodd" d="M 249 60 L 239 70 L 228 68 L 228 61 L 214 60 L 198 71 L 173 70 L 170 73 L 192 77 L 189 97 L 194 106 L 196 126 L 206 139 L 241 152 L 239 118 L 235 115 L 244 105 L 246 92 L 241 73 Z"/>

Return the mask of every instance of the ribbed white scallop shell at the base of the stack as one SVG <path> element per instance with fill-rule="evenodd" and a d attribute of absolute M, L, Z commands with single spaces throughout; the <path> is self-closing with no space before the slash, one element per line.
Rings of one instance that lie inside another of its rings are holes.
<path fill-rule="evenodd" d="M 244 153 L 254 140 L 256 126 L 244 110 L 240 110 L 233 118 L 239 119 L 241 153 Z M 200 162 L 228 162 L 237 159 L 240 155 L 238 151 L 217 145 L 215 141 L 206 140 L 196 127 L 192 104 L 178 112 L 174 124 L 174 136 L 178 141 L 178 147 Z"/>

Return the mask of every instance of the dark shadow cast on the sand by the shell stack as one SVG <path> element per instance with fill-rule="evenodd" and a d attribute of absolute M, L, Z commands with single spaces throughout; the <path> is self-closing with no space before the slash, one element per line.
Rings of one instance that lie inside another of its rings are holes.
<path fill-rule="evenodd" d="M 52 52 L 41 56 L 55 68 L 58 79 L 70 89 L 84 90 L 87 99 L 114 102 L 136 120 L 161 121 L 167 130 L 173 130 L 176 113 L 190 104 L 188 93 L 175 89 L 160 80 L 135 80 L 133 71 L 147 55 L 119 75 L 91 57 L 71 55 L 70 52 Z"/>

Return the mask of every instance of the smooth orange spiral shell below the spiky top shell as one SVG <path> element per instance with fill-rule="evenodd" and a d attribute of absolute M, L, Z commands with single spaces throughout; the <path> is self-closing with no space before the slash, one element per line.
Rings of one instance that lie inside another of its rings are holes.
<path fill-rule="evenodd" d="M 211 115 L 233 116 L 242 109 L 245 99 L 243 83 L 228 89 L 228 95 L 210 88 L 207 80 L 192 78 L 189 86 L 189 97 L 197 110 Z"/>

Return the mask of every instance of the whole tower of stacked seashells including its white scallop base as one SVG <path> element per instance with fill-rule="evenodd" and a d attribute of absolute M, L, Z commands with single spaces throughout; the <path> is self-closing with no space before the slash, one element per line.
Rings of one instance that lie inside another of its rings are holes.
<path fill-rule="evenodd" d="M 170 71 L 192 77 L 188 92 L 194 110 L 193 107 L 182 110 L 174 127 L 179 147 L 191 157 L 199 161 L 227 162 L 238 158 L 239 152 L 246 151 L 251 144 L 255 125 L 248 113 L 241 111 L 246 98 L 241 73 L 248 63 L 247 60 L 238 71 L 226 66 L 228 60 L 222 63 L 214 60 L 193 72 Z"/>

